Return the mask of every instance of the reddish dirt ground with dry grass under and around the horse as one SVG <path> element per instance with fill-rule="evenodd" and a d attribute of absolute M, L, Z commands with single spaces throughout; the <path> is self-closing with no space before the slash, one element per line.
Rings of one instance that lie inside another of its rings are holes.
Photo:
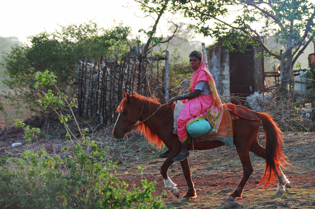
<path fill-rule="evenodd" d="M 10 126 L 0 129 L 0 155 L 5 150 L 21 155 L 25 150 L 37 151 L 45 147 L 50 153 L 53 150 L 61 153 L 61 148 L 66 146 L 65 130 L 51 113 L 43 113 L 26 120 L 31 127 L 39 127 L 42 130 L 38 141 L 26 143 L 24 131 Z M 70 124 L 73 125 L 74 124 Z M 109 147 L 109 155 L 112 161 L 119 162 L 116 176 L 120 181 L 140 185 L 140 180 L 146 178 L 148 182 L 156 182 L 154 196 L 161 196 L 165 190 L 163 179 L 159 169 L 163 159 L 158 154 L 163 152 L 157 147 L 151 146 L 139 134 L 133 132 L 122 140 L 116 140 L 111 134 L 112 126 L 104 127 L 101 124 L 90 121 L 80 121 L 81 128 L 92 129 L 91 136 L 102 146 Z M 260 143 L 264 145 L 264 137 L 260 137 Z M 22 142 L 22 146 L 11 147 L 14 142 Z M 275 196 L 277 183 L 266 190 L 257 187 L 255 179 L 261 179 L 265 170 L 265 161 L 251 153 L 250 157 L 254 172 L 250 176 L 243 198 L 235 200 L 232 204 L 225 204 L 227 195 L 238 186 L 243 169 L 235 148 L 222 146 L 213 150 L 190 151 L 189 164 L 192 172 L 192 180 L 195 184 L 198 197 L 188 203 L 180 203 L 171 193 L 162 195 L 162 200 L 167 208 L 315 208 L 315 133 L 286 132 L 284 133 L 284 154 L 291 160 L 292 167 L 284 170 L 284 174 L 291 182 L 286 186 L 286 192 L 282 196 Z M 144 168 L 141 173 L 138 167 Z M 177 184 L 180 196 L 186 192 L 186 181 L 180 164 L 175 162 L 168 171 L 169 177 Z"/>

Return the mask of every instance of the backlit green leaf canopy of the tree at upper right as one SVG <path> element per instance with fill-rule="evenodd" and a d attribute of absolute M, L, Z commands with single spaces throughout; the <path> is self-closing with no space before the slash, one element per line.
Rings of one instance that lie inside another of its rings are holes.
<path fill-rule="evenodd" d="M 172 1 L 169 9 L 174 13 L 183 12 L 186 17 L 196 20 L 194 26 L 205 36 L 230 39 L 229 35 L 232 35 L 233 42 L 236 42 L 244 37 L 247 37 L 247 40 L 255 40 L 258 34 L 264 37 L 272 35 L 276 37 L 278 44 L 298 47 L 300 42 L 305 44 L 314 32 L 314 4 L 307 0 L 280 0 L 269 3 L 255 0 L 191 2 L 192 4 L 186 1 Z M 233 8 L 233 11 L 229 8 Z M 224 21 L 222 17 L 233 14 L 236 8 L 239 9 L 239 15 L 232 21 Z M 209 20 L 215 21 L 208 22 Z M 305 32 L 308 33 L 303 36 Z"/>

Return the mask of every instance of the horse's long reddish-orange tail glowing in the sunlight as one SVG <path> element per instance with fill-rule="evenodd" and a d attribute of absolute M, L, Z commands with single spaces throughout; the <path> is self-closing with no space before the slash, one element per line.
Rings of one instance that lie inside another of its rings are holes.
<path fill-rule="evenodd" d="M 282 152 L 282 131 L 272 116 L 267 113 L 258 113 L 265 132 L 265 148 L 266 148 L 266 170 L 259 185 L 266 182 L 264 187 L 276 182 L 277 174 L 280 172 L 280 166 L 286 169 L 290 165 L 289 160 Z"/>

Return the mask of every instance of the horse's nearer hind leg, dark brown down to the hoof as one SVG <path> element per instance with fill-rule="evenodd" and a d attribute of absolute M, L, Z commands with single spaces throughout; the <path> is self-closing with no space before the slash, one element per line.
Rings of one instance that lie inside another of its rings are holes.
<path fill-rule="evenodd" d="M 241 182 L 239 183 L 238 187 L 236 190 L 229 194 L 229 196 L 226 198 L 226 202 L 232 202 L 234 201 L 237 197 L 242 197 L 242 193 L 244 190 L 244 187 L 246 185 L 247 180 L 249 179 L 249 176 L 253 173 L 254 169 L 252 166 L 252 163 L 250 161 L 249 157 L 249 150 L 246 147 L 241 147 L 241 146 L 236 146 L 236 150 L 238 152 L 238 156 L 242 162 L 243 165 L 243 178 Z"/>

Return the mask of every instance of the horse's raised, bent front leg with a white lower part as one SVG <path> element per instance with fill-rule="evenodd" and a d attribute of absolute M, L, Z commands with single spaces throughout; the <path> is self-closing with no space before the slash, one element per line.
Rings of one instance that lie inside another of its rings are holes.
<path fill-rule="evenodd" d="M 171 192 L 175 197 L 179 198 L 180 192 L 176 187 L 177 185 L 174 182 L 172 182 L 172 180 L 167 175 L 167 170 L 169 169 L 169 166 L 174 163 L 173 158 L 175 156 L 176 154 L 174 154 L 174 152 L 172 153 L 171 151 L 169 156 L 166 158 L 165 162 L 162 164 L 160 172 L 163 177 L 165 188 L 167 188 L 167 190 L 169 190 L 169 192 Z"/>

